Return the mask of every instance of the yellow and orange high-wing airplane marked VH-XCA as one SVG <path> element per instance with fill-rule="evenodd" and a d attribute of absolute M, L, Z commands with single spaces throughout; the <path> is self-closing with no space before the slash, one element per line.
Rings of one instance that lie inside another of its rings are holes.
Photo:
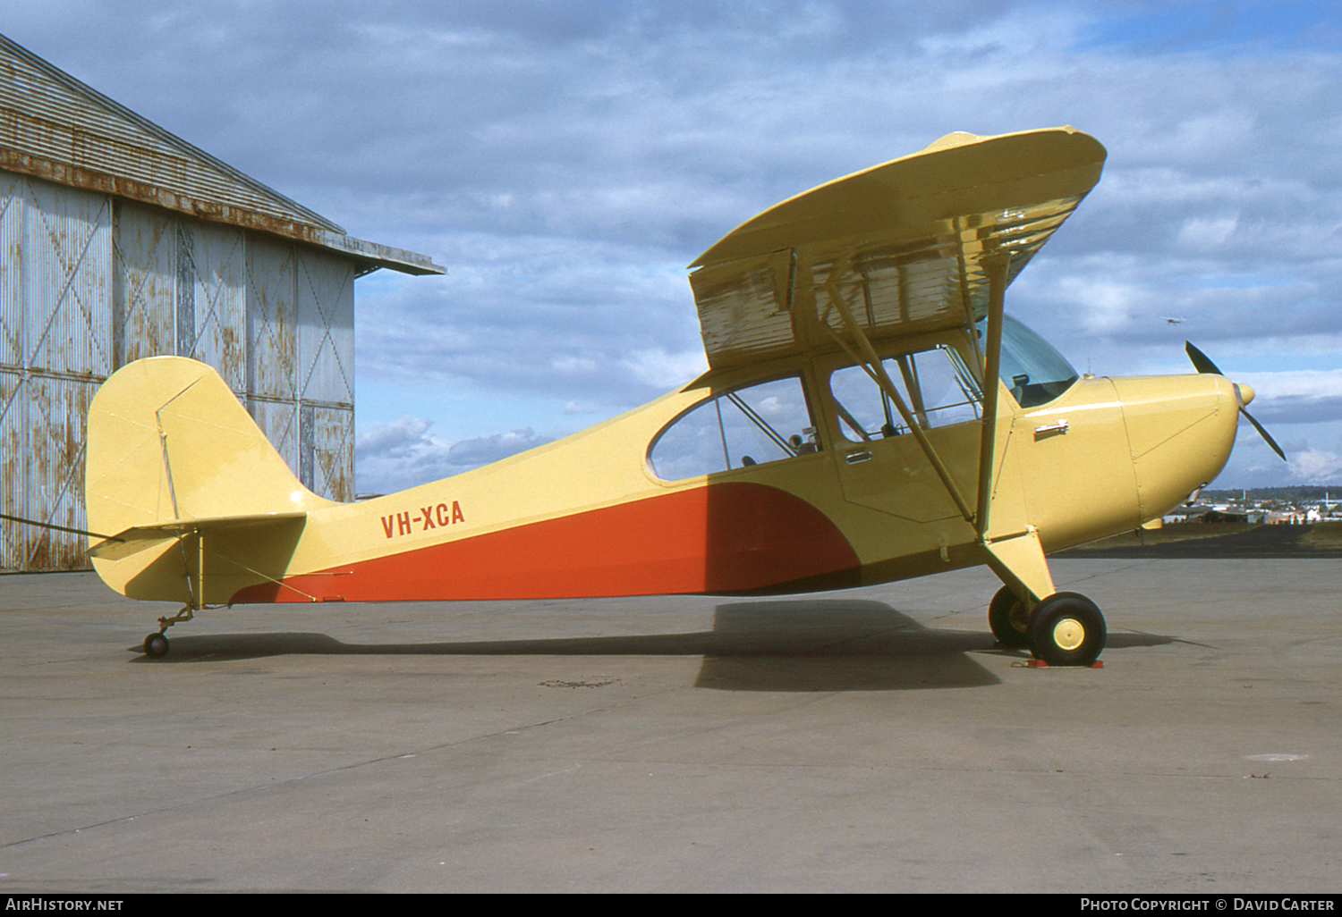
<path fill-rule="evenodd" d="M 90 409 L 89 528 L 114 532 L 94 567 L 183 603 L 145 638 L 158 657 L 215 605 L 757 595 L 988 564 L 1004 645 L 1090 665 L 1104 618 L 1045 552 L 1216 477 L 1253 395 L 1192 349 L 1197 374 L 1079 377 L 1004 315 L 1104 156 L 1071 127 L 949 134 L 789 198 L 691 264 L 707 373 L 361 503 L 303 488 L 211 367 L 137 361 Z"/>

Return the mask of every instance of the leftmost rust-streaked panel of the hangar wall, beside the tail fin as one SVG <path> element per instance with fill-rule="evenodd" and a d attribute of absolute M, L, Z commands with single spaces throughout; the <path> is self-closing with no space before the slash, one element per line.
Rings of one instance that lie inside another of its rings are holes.
<path fill-rule="evenodd" d="M 0 173 L 0 512 L 82 528 L 85 424 L 113 367 L 111 204 Z M 0 568 L 86 566 L 78 535 L 0 532 Z"/>

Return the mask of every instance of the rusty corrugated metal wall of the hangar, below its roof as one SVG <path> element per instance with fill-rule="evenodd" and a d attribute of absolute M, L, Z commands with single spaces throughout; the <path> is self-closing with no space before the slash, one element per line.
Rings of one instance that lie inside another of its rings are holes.
<path fill-rule="evenodd" d="M 295 475 L 352 500 L 354 261 L 0 172 L 0 512 L 82 528 L 89 404 L 154 354 L 215 366 Z M 0 570 L 86 567 L 0 524 Z"/>

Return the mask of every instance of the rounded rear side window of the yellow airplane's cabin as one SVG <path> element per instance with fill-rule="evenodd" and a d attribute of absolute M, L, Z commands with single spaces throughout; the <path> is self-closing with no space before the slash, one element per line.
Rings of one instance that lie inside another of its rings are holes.
<path fill-rule="evenodd" d="M 648 448 L 664 481 L 781 461 L 819 449 L 801 378 L 722 391 L 680 414 Z"/>

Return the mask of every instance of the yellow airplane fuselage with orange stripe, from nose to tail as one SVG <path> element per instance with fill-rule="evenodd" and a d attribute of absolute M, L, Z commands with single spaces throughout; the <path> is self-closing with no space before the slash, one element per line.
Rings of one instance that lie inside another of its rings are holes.
<path fill-rule="evenodd" d="M 962 331 L 898 347 L 938 349 L 962 366 L 974 358 Z M 565 440 L 360 503 L 294 488 L 289 508 L 305 519 L 260 539 L 247 530 L 211 536 L 204 601 L 794 593 L 984 563 L 974 524 L 915 437 L 896 429 L 880 434 L 875 424 L 867 430 L 852 413 L 845 420 L 840 398 L 848 397 L 844 374 L 854 369 L 840 355 L 711 371 Z M 998 385 L 988 534 L 1033 528 L 1045 551 L 1159 516 L 1216 476 L 1235 437 L 1235 391 L 1217 375 L 1083 378 L 1033 408 L 1021 408 Z M 784 450 L 761 440 L 750 448 L 773 448 L 778 457 L 739 464 L 730 454 L 739 430 L 723 421 L 702 434 L 695 406 L 721 418 L 734 393 L 743 401 L 754 391 L 768 395 L 758 400 L 761 412 L 807 424 L 780 425 L 778 438 L 805 441 Z M 790 417 L 780 408 L 789 393 Z M 976 398 L 958 410 L 981 409 Z M 951 416 L 946 420 L 958 422 L 938 425 L 935 414 L 919 414 L 926 438 L 973 500 L 980 422 Z M 667 430 L 682 422 L 702 434 L 709 458 L 678 454 L 666 471 L 658 444 L 678 436 Z M 719 458 L 719 450 L 727 454 Z M 695 461 L 734 467 L 682 477 Z M 153 563 L 134 564 L 130 575 L 123 570 L 126 594 L 183 601 L 178 555 L 165 546 Z M 229 560 L 215 562 L 216 555 Z"/>

